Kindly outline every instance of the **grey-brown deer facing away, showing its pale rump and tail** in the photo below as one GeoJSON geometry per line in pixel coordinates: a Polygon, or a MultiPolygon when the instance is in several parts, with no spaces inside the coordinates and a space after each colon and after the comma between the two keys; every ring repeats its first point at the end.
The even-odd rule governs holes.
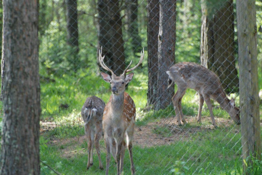
{"type": "Polygon", "coordinates": [[[102,117],[105,108],[105,102],[96,96],[88,97],[82,107],[81,115],[84,120],[85,134],[88,140],[88,162],[86,169],[93,165],[94,144],[99,160],[99,168],[103,165],[100,157],[99,140],[102,136],[102,117]]]}

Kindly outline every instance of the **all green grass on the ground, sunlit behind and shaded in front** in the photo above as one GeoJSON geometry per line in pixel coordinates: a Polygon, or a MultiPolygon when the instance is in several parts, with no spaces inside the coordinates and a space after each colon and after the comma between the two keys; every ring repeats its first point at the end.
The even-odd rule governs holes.
{"type": "MultiPolygon", "coordinates": [[[[41,83],[41,107],[42,120],[54,121],[57,127],[50,129],[41,136],[41,140],[69,139],[84,135],[84,127],[81,121],[80,110],[85,99],[91,95],[108,101],[111,92],[110,85],[102,80],[100,75],[81,72],[76,80],[73,76],[51,77],[54,83],[41,83]],[[86,76],[88,75],[88,76],[86,76]],[[72,83],[74,82],[74,83],[72,83]],[[67,110],[59,111],[59,104],[69,104],[67,110]],[[77,121],[77,122],[76,122],[77,121]]],[[[177,89],[177,88],[175,88],[177,89]]],[[[147,77],[137,73],[129,83],[127,92],[133,98],[137,108],[137,126],[145,126],[149,122],[156,122],[161,118],[174,117],[172,102],[166,109],[147,111],[146,105],[147,77]]],[[[188,89],[182,100],[182,110],[185,116],[196,117],[198,112],[198,97],[196,92],[188,89]]],[[[237,104],[238,104],[237,97],[237,104]]],[[[2,105],[0,103],[0,105],[2,105]]],[[[215,103],[215,105],[217,105],[215,103]]],[[[261,106],[260,106],[261,109],[261,106]]],[[[213,113],[217,118],[229,119],[229,115],[221,108],[214,108],[213,113]]],[[[210,117],[204,104],[202,116],[210,117]]],[[[262,119],[262,117],[261,117],[262,119]]],[[[196,121],[196,120],[194,120],[196,121]]],[[[183,125],[184,130],[203,127],[211,124],[211,119],[201,124],[190,122],[183,125]]],[[[152,133],[158,137],[170,137],[174,133],[166,126],[154,125],[152,133]]],[[[171,174],[183,172],[184,174],[241,174],[242,160],[240,133],[235,132],[234,126],[218,127],[216,129],[201,129],[198,132],[189,133],[187,137],[169,143],[170,145],[140,147],[133,146],[133,156],[137,174],[171,174]]],[[[238,130],[238,129],[237,129],[238,130]]],[[[136,132],[136,131],[135,131],[136,132]]],[[[41,141],[42,143],[43,141],[41,141]]],[[[45,142],[46,143],[46,142],[45,142]]],[[[51,165],[62,174],[104,174],[99,170],[97,155],[94,154],[94,165],[86,171],[87,152],[76,152],[70,157],[63,156],[65,150],[74,146],[75,150],[87,148],[87,143],[78,144],[75,141],[41,145],[41,160],[51,165]]],[[[49,142],[48,142],[49,143],[49,142]]],[[[103,140],[100,142],[104,147],[103,140]]],[[[95,153],[95,151],[94,151],[95,153]]],[[[102,163],[105,168],[105,152],[101,151],[102,163]]],[[[113,159],[110,163],[110,174],[116,174],[116,166],[113,159]]],[[[51,171],[41,165],[41,174],[50,174],[51,171]]],[[[130,174],[130,161],[128,151],[125,153],[124,173],[130,174]]]]}

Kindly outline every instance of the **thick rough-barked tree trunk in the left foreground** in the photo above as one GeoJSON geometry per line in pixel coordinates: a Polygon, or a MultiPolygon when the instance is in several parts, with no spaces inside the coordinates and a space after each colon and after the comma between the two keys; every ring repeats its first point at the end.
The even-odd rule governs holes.
{"type": "Polygon", "coordinates": [[[37,1],[4,0],[0,174],[40,174],[37,1]]]}

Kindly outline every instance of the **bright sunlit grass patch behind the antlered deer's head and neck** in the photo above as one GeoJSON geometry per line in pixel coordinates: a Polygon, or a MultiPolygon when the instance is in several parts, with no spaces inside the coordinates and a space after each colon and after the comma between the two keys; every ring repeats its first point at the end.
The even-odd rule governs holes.
{"type": "MultiPolygon", "coordinates": [[[[63,116],[73,110],[80,112],[86,98],[92,95],[106,103],[111,95],[110,83],[103,81],[100,75],[90,72],[93,71],[80,72],[77,78],[65,74],[61,77],[51,76],[55,82],[41,82],[42,118],[63,116]],[[60,104],[68,104],[69,108],[59,111],[60,104]]],[[[146,105],[146,89],[147,77],[141,73],[136,74],[126,92],[132,96],[137,108],[146,105]]]]}

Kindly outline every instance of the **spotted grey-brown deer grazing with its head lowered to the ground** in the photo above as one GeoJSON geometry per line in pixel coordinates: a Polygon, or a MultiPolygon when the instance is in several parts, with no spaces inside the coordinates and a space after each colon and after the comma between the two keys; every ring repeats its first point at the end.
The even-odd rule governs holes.
{"type": "Polygon", "coordinates": [[[181,120],[184,124],[186,123],[181,108],[181,100],[187,88],[194,89],[199,94],[198,122],[201,122],[201,112],[205,100],[210,111],[212,124],[216,127],[215,118],[212,112],[212,104],[210,101],[210,98],[212,98],[228,112],[230,117],[237,124],[240,124],[239,109],[235,106],[233,99],[229,100],[227,98],[221,86],[220,80],[214,72],[195,63],[182,62],[171,66],[166,73],[169,76],[168,88],[171,86],[172,82],[176,83],[178,87],[172,101],[179,125],[181,125],[181,120]]]}

